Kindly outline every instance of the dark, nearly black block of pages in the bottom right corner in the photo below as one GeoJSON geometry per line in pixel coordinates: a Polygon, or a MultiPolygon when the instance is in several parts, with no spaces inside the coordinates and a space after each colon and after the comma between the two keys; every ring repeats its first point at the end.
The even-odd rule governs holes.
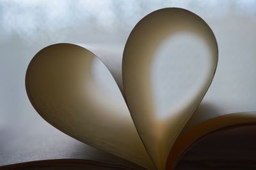
{"type": "Polygon", "coordinates": [[[214,130],[189,146],[175,169],[255,169],[255,134],[256,123],[214,130]]]}

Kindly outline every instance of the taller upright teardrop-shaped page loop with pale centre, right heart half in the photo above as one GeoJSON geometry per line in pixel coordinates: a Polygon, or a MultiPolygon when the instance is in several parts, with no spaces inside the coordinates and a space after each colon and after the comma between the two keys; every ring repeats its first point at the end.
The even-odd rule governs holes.
{"type": "Polygon", "coordinates": [[[158,169],[211,84],[218,46],[210,27],[181,8],[150,13],[124,49],[124,94],[132,119],[158,169]]]}

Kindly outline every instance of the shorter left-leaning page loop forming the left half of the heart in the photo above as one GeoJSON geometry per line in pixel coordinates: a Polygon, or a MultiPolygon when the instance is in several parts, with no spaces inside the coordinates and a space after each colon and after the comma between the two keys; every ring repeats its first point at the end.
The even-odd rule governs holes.
{"type": "Polygon", "coordinates": [[[60,43],[28,66],[26,89],[36,111],[65,134],[154,169],[108,68],[89,50],[60,43]]]}

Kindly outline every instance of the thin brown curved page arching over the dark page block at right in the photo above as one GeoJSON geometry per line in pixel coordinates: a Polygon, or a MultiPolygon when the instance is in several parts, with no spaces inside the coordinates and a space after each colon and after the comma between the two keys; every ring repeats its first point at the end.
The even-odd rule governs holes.
{"type": "Polygon", "coordinates": [[[211,118],[195,127],[191,128],[187,132],[184,132],[179,136],[173,148],[170,151],[167,169],[172,169],[178,163],[180,156],[188,149],[191,144],[196,140],[204,137],[204,135],[218,130],[220,128],[230,127],[234,125],[244,125],[248,123],[256,123],[256,112],[238,112],[232,114],[225,114],[216,118],[211,118]]]}

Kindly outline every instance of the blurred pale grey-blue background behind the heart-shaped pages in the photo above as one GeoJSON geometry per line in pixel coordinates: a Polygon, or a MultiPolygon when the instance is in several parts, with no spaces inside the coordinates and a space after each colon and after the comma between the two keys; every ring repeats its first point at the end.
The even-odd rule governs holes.
{"type": "Polygon", "coordinates": [[[60,42],[124,48],[129,33],[142,17],[166,7],[186,8],[196,13],[209,24],[218,41],[218,68],[196,111],[198,121],[229,112],[256,111],[256,1],[1,0],[1,165],[40,158],[68,158],[72,154],[84,158],[83,151],[74,153],[70,149],[74,144],[83,144],[52,128],[36,114],[28,100],[24,78],[36,52],[60,42]],[[36,130],[40,128],[45,133],[36,130]],[[42,138],[35,139],[35,136],[42,138]],[[20,144],[22,141],[30,143],[20,144]],[[62,148],[54,145],[57,141],[63,143],[62,148]],[[39,146],[46,146],[47,150],[42,151],[39,146]],[[33,151],[28,153],[31,147],[33,151]],[[10,150],[15,154],[20,151],[10,155],[10,150]],[[41,157],[31,158],[35,151],[41,157]],[[22,157],[24,152],[31,157],[22,157]]]}

